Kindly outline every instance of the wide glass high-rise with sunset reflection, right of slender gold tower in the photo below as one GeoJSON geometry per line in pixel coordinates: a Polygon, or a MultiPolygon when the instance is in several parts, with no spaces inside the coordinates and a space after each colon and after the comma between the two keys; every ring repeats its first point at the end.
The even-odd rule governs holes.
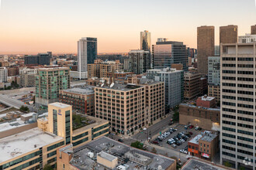
{"type": "Polygon", "coordinates": [[[183,42],[157,39],[152,48],[154,69],[171,67],[173,63],[181,63],[183,70],[189,70],[189,53],[183,42]]]}

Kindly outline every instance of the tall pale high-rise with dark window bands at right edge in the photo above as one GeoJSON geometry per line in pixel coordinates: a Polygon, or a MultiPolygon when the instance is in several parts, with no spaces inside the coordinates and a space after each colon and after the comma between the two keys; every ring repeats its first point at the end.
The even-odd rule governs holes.
{"type": "Polygon", "coordinates": [[[220,160],[255,169],[256,42],[220,50],[220,160]]]}

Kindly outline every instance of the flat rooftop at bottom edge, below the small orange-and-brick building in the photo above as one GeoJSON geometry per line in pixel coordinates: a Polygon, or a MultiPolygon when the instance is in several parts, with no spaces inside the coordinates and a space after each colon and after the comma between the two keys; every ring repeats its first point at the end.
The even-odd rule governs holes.
{"type": "Polygon", "coordinates": [[[195,170],[195,169],[202,169],[202,170],[227,170],[231,168],[223,167],[222,165],[214,165],[212,162],[206,162],[195,158],[190,158],[185,165],[182,166],[181,170],[195,170]]]}

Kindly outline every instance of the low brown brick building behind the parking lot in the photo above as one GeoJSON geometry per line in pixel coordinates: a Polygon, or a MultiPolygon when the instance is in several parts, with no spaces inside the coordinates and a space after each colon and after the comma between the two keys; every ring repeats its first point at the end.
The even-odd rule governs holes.
{"type": "Polygon", "coordinates": [[[220,131],[220,108],[180,104],[179,124],[192,124],[209,131],[220,131]]]}

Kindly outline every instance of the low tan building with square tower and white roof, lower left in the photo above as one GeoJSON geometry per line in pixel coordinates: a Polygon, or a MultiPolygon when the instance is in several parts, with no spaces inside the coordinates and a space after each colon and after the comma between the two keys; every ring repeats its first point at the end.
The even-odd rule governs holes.
{"type": "Polygon", "coordinates": [[[78,148],[108,134],[108,121],[77,117],[70,105],[54,103],[49,104],[48,113],[23,114],[0,124],[0,169],[56,168],[57,148],[68,144],[78,148]]]}

